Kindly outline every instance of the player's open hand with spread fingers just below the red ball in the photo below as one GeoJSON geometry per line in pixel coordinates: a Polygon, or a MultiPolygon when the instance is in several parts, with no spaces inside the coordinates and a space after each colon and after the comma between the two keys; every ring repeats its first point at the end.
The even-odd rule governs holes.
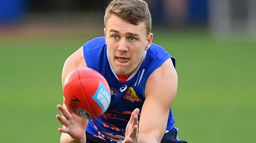
{"type": "Polygon", "coordinates": [[[65,127],[59,128],[58,131],[69,134],[73,139],[84,138],[85,130],[88,125],[88,119],[69,113],[62,105],[58,104],[57,108],[63,116],[56,115],[56,118],[65,127]]]}

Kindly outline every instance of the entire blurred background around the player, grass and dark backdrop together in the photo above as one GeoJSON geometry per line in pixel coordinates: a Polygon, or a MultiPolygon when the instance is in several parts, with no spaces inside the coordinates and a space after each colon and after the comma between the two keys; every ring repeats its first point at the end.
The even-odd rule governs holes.
{"type": "MultiPolygon", "coordinates": [[[[172,105],[189,143],[254,142],[256,1],[145,0],[153,42],[177,60],[172,105]]],[[[96,36],[110,0],[0,0],[0,142],[59,142],[65,59],[96,36]]]]}

